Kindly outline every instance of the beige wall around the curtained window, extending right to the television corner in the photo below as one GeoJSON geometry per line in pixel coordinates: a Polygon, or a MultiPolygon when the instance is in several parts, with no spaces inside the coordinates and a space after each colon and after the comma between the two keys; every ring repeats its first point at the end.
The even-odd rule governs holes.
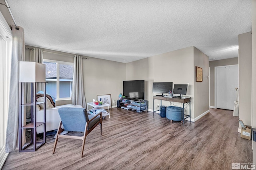
{"type": "MultiPolygon", "coordinates": [[[[35,48],[26,46],[26,48],[35,48]]],[[[42,48],[39,48],[42,49],[42,48]]],[[[30,50],[25,51],[26,60],[29,61],[30,50]]],[[[74,54],[43,49],[43,58],[55,61],[73,63],[74,54]]],[[[110,94],[112,101],[118,100],[118,95],[123,92],[123,80],[126,79],[126,65],[114,61],[85,57],[83,59],[84,89],[86,102],[92,102],[97,95],[110,94]]],[[[71,100],[56,101],[56,106],[72,104],[71,100]]]]}

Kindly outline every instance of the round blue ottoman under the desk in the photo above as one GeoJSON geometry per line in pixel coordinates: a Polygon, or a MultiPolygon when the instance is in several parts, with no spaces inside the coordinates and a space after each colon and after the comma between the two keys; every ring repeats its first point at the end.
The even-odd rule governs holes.
{"type": "Polygon", "coordinates": [[[171,122],[174,121],[181,121],[183,122],[184,110],[182,107],[177,106],[168,106],[166,107],[166,118],[169,119],[171,122]]]}

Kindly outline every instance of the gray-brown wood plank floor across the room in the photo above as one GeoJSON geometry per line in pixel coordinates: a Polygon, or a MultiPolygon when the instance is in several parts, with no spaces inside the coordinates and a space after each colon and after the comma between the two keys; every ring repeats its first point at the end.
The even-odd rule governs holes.
{"type": "Polygon", "coordinates": [[[232,163],[252,163],[252,141],[238,133],[233,111],[210,109],[192,123],[170,123],[152,112],[113,108],[87,137],[80,158],[81,140],[54,135],[36,152],[11,152],[3,170],[19,169],[231,169],[232,163]]]}

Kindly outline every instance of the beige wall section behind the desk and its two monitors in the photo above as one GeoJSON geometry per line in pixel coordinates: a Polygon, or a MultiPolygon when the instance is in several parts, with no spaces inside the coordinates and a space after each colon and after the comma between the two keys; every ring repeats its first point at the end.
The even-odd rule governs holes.
{"type": "MultiPolygon", "coordinates": [[[[173,82],[174,84],[186,84],[190,86],[187,89],[187,96],[192,97],[191,102],[191,117],[194,118],[194,47],[187,47],[171,51],[168,53],[150,57],[152,65],[149,66],[151,71],[152,82],[173,82]]],[[[150,101],[153,103],[152,84],[150,84],[150,101]]],[[[155,100],[155,108],[160,104],[159,100],[155,100]]],[[[170,106],[169,102],[162,102],[164,106],[170,106]]],[[[176,106],[182,106],[181,103],[175,103],[176,106]]],[[[189,108],[189,107],[188,107],[189,108]]],[[[189,114],[189,109],[185,114],[189,114]]]]}

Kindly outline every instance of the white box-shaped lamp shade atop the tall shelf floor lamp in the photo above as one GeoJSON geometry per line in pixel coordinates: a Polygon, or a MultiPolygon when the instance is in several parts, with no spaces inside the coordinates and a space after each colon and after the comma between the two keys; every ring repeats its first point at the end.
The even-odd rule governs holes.
{"type": "Polygon", "coordinates": [[[45,82],[45,64],[20,61],[20,82],[45,82]]]}

